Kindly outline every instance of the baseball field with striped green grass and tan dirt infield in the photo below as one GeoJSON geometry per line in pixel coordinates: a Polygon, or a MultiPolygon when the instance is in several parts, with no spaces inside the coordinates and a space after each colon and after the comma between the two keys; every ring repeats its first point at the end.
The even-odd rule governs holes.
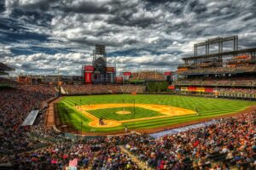
{"type": "Polygon", "coordinates": [[[90,95],[62,97],[55,104],[59,127],[83,133],[113,133],[169,127],[234,114],[256,102],[178,95],[90,95]]]}

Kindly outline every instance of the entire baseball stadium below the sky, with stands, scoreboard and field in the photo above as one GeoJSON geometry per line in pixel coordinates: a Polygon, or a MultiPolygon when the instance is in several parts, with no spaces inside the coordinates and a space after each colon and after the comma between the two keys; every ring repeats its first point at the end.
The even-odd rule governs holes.
{"type": "Polygon", "coordinates": [[[97,44],[76,77],[14,79],[0,63],[1,169],[254,169],[256,48],[217,37],[194,53],[176,71],[118,74],[97,44]]]}

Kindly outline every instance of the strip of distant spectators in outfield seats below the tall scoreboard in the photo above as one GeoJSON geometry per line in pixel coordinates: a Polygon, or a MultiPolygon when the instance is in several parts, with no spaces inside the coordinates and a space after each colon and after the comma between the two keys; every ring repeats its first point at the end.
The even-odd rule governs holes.
{"type": "Polygon", "coordinates": [[[61,87],[67,94],[131,94],[145,91],[145,86],[131,84],[62,85],[61,87]]]}

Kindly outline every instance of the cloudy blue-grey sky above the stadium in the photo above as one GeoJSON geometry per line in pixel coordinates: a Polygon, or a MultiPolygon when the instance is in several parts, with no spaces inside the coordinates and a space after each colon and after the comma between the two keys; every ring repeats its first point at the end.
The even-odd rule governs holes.
{"type": "Polygon", "coordinates": [[[256,47],[255,0],[0,0],[0,62],[17,73],[80,75],[96,43],[118,71],[174,71],[195,42],[233,35],[256,47]]]}

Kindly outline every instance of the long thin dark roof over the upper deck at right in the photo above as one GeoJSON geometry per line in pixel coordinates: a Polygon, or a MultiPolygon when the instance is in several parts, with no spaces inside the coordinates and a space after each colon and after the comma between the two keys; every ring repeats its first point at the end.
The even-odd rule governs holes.
{"type": "Polygon", "coordinates": [[[199,55],[199,56],[194,56],[194,57],[185,57],[183,60],[189,60],[189,59],[205,59],[205,58],[211,58],[211,57],[218,57],[218,56],[223,56],[223,55],[232,55],[232,54],[244,54],[244,53],[255,53],[256,48],[247,48],[247,49],[241,49],[237,51],[229,51],[229,52],[224,52],[220,54],[207,54],[207,55],[199,55]]]}

